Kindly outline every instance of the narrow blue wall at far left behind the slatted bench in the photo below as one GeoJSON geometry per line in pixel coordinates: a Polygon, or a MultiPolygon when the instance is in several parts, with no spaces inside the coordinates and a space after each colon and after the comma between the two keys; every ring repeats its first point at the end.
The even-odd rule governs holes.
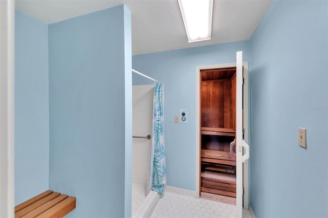
{"type": "Polygon", "coordinates": [[[15,204],[48,189],[48,26],[15,11],[15,204]]]}

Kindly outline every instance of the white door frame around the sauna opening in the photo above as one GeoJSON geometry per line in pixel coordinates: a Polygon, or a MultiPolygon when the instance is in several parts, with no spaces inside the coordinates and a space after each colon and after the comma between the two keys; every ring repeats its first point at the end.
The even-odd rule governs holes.
{"type": "MultiPolygon", "coordinates": [[[[249,89],[249,81],[248,81],[248,61],[242,62],[243,73],[244,73],[244,128],[245,128],[245,142],[249,143],[249,98],[248,98],[248,89],[249,89]]],[[[198,66],[196,67],[196,180],[195,180],[195,197],[199,198],[199,157],[200,157],[200,70],[208,70],[215,68],[233,68],[236,67],[236,62],[234,63],[225,63],[225,64],[215,64],[208,66],[198,66]]],[[[249,207],[249,161],[245,161],[243,164],[243,183],[244,183],[244,195],[243,195],[243,207],[249,207]]]]}

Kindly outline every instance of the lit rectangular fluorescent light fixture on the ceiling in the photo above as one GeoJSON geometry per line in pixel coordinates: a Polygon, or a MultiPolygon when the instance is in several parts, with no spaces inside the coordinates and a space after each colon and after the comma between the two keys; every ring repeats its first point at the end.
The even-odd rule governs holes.
{"type": "Polygon", "coordinates": [[[213,0],[178,0],[188,41],[211,39],[213,0]]]}

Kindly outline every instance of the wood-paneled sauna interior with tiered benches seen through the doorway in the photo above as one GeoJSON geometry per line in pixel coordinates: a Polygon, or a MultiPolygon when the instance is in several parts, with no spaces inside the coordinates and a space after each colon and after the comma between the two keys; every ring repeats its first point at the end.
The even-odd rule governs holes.
{"type": "Polygon", "coordinates": [[[236,68],[200,71],[200,196],[236,198],[236,68]]]}

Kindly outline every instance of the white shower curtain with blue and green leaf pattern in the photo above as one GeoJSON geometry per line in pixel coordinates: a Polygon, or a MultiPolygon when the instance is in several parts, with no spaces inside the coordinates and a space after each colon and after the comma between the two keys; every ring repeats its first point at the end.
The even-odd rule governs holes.
{"type": "Polygon", "coordinates": [[[153,136],[150,152],[150,170],[147,183],[147,194],[151,189],[162,194],[166,185],[163,103],[163,84],[155,82],[153,100],[153,136]]]}

